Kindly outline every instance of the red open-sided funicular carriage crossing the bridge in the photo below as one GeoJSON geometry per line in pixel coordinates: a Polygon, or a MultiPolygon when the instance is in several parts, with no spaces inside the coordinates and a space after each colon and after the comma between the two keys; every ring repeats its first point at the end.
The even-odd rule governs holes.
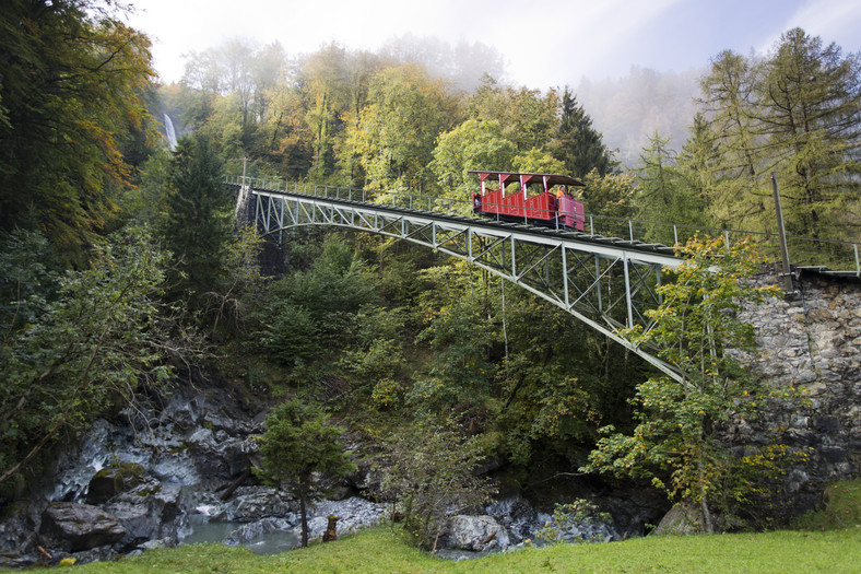
{"type": "Polygon", "coordinates": [[[527,221],[583,231],[583,204],[574,199],[569,190],[571,187],[586,186],[579,179],[555,174],[468,173],[477,174],[482,186],[481,194],[472,195],[474,213],[504,221],[527,221]],[[506,195],[509,186],[514,187],[514,191],[506,195]]]}

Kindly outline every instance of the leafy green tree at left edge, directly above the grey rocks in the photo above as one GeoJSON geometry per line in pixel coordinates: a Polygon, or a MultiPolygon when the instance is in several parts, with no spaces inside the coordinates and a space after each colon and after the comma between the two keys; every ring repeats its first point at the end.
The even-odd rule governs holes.
{"type": "Polygon", "coordinates": [[[57,278],[56,298],[39,297],[25,325],[3,326],[0,484],[38,476],[43,450],[170,373],[162,358],[182,339],[157,302],[167,255],[142,230],[113,239],[86,270],[57,278]]]}

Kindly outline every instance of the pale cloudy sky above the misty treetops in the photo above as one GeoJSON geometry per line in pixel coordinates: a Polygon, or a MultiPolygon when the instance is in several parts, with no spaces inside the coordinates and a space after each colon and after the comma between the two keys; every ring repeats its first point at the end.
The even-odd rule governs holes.
{"type": "Polygon", "coordinates": [[[132,0],[132,26],[153,40],[166,83],[182,55],[228,38],[278,40],[291,55],[332,40],[376,50],[412,34],[481,42],[505,58],[509,83],[544,90],[582,78],[705,67],[719,51],[772,46],[801,26],[845,52],[861,50],[859,0],[132,0]]]}

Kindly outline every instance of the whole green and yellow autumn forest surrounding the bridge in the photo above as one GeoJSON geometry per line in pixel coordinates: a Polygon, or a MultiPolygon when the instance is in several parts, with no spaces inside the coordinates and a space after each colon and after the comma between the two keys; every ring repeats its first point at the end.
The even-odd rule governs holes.
{"type": "MultiPolygon", "coordinates": [[[[0,14],[0,504],[97,417],[205,368],[281,405],[275,444],[302,446],[274,430],[306,417],[401,460],[457,450],[435,471],[463,496],[486,488],[471,482],[483,461],[499,489],[589,472],[701,503],[707,517],[786,518],[775,493],[733,488],[771,484],[778,470],[751,479],[750,460],[715,438],[754,385],[731,358],[699,368],[668,356],[689,373],[675,385],[486,271],[377,236],[304,230],[273,255],[235,229],[222,180],[245,162],[249,176],[463,199],[477,185],[469,169],[558,173],[587,184],[589,213],[774,232],[776,174],[790,235],[858,242],[860,55],[800,28],[763,57],[720,52],[685,103],[694,112],[677,151],[656,126],[623,168],[573,89],[500,83],[500,58],[480,44],[401,38],[379,52],[331,43],[287,55],[229,40],[188,55],[182,81],[166,85],[121,10],[10,0],[0,14]],[[763,501],[769,516],[752,511],[763,501]]],[[[722,309],[770,293],[697,274],[718,251],[752,272],[750,251],[721,249],[688,245],[686,280],[723,297],[722,309]]],[[[721,344],[750,344],[727,314],[696,302],[675,312],[712,321],[721,344]]],[[[668,324],[653,336],[689,333],[668,324]]],[[[263,479],[306,488],[302,461],[279,452],[263,449],[263,479]]],[[[321,469],[349,466],[328,460],[321,469]]],[[[439,508],[413,494],[425,513],[415,537],[429,547],[439,508]]]]}

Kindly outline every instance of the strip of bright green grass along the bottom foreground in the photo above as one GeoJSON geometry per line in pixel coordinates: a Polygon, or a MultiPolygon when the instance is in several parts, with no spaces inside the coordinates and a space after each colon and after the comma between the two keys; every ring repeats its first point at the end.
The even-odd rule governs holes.
{"type": "Polygon", "coordinates": [[[75,569],[82,573],[370,572],[861,572],[861,527],[829,531],[650,537],[608,544],[558,544],[447,562],[405,546],[381,527],[328,544],[258,557],[241,548],[191,544],[75,569]]]}

